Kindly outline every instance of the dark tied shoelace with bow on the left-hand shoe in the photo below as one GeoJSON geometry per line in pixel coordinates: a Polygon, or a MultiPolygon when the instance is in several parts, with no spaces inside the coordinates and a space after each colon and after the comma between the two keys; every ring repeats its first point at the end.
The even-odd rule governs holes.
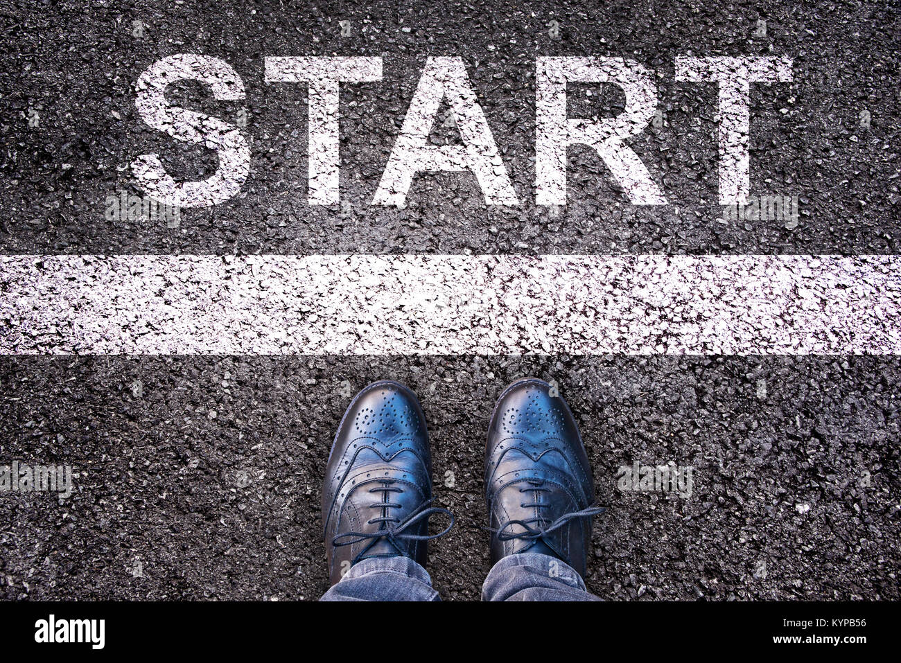
{"type": "Polygon", "coordinates": [[[432,499],[423,501],[422,504],[419,504],[419,506],[417,506],[403,519],[391,515],[391,509],[399,509],[401,508],[401,504],[390,502],[388,495],[390,493],[403,493],[404,489],[400,486],[393,486],[393,484],[395,483],[393,479],[385,479],[381,483],[383,484],[383,486],[369,489],[369,493],[381,493],[383,495],[381,502],[369,504],[370,508],[381,510],[381,516],[379,516],[378,518],[371,518],[369,519],[369,521],[367,521],[367,524],[370,525],[378,522],[378,530],[369,532],[347,531],[336,535],[332,539],[332,546],[335,546],[336,548],[341,546],[351,546],[354,543],[360,543],[362,541],[369,540],[369,545],[360,550],[359,554],[351,562],[352,564],[356,564],[359,559],[364,554],[366,554],[366,551],[372,548],[372,546],[374,546],[380,539],[386,539],[396,549],[403,550],[403,541],[424,541],[438,539],[439,537],[442,537],[449,531],[451,531],[451,527],[453,527],[453,513],[441,506],[432,506],[432,499]],[[427,521],[429,516],[437,513],[447,515],[451,519],[451,523],[446,528],[444,528],[443,531],[437,534],[414,534],[412,532],[406,531],[409,528],[413,527],[417,522],[420,522],[422,520],[427,521]]]}

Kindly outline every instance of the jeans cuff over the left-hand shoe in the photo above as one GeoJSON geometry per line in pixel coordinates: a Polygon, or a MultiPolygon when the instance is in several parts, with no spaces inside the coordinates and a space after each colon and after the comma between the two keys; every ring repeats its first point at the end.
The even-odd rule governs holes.
{"type": "Polygon", "coordinates": [[[370,557],[350,567],[320,601],[441,601],[428,572],[406,557],[370,557]]]}

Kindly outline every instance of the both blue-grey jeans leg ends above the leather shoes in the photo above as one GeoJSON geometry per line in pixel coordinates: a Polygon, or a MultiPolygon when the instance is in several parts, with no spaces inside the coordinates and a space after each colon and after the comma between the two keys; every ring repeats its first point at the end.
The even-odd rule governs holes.
{"type": "MultiPolygon", "coordinates": [[[[428,572],[405,557],[354,564],[322,601],[441,601],[428,572]]],[[[537,552],[498,560],[482,586],[483,601],[600,601],[576,570],[537,552]]]]}

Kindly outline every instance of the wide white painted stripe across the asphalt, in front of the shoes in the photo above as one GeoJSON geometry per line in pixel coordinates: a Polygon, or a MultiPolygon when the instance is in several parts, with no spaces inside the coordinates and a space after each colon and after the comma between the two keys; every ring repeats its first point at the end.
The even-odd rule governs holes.
{"type": "Polygon", "coordinates": [[[3,256],[0,354],[899,354],[896,256],[3,256]]]}

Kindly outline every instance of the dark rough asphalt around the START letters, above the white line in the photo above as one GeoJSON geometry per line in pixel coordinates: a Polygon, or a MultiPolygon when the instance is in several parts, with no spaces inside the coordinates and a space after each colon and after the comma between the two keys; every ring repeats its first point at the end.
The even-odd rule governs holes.
{"type": "MultiPolygon", "coordinates": [[[[894,3],[6,7],[4,253],[901,253],[894,3]],[[246,120],[250,174],[231,200],[184,210],[178,228],[107,220],[107,196],[140,193],[131,165],[141,154],[159,152],[178,179],[217,168],[214,151],[137,113],[141,73],[177,53],[223,59],[241,77],[243,100],[216,101],[197,83],[167,96],[235,126],[246,120]],[[383,58],[381,81],[341,86],[341,204],[307,204],[305,84],[265,80],[266,57],[291,55],[383,58]],[[466,64],[518,206],[486,206],[471,174],[419,175],[404,209],[371,204],[430,55],[466,64]],[[629,144],[669,204],[629,204],[596,153],[578,146],[569,204],[535,204],[535,59],[545,55],[630,58],[651,71],[660,121],[629,144]],[[751,193],[797,195],[796,223],[717,221],[716,86],[677,81],[675,70],[677,57],[714,55],[792,60],[791,83],[751,85],[749,144],[751,193]]],[[[616,86],[569,88],[570,116],[623,111],[616,86]]],[[[459,141],[453,123],[436,123],[432,141],[459,141]]]]}

